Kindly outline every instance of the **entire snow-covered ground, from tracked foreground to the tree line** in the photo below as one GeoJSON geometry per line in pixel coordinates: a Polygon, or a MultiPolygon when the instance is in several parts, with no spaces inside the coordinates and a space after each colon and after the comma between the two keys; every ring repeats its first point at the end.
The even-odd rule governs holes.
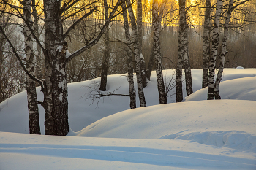
{"type": "MultiPolygon", "coordinates": [[[[169,81],[175,71],[164,73],[169,81]]],[[[0,104],[0,169],[256,169],[255,75],[256,69],[225,69],[220,95],[227,99],[206,101],[202,69],[193,69],[199,91],[186,102],[173,103],[173,95],[171,104],[157,105],[153,72],[144,89],[151,107],[138,109],[129,109],[125,96],[105,98],[98,107],[85,100],[99,78],[72,83],[68,136],[28,134],[26,93],[19,93],[0,104]]],[[[107,90],[128,94],[127,77],[108,76],[107,90]]],[[[39,112],[43,132],[42,107],[39,112]]]]}

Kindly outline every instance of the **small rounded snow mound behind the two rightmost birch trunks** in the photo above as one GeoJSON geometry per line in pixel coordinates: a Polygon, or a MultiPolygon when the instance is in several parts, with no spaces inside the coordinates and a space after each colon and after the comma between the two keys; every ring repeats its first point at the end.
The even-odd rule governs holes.
{"type": "MultiPolygon", "coordinates": [[[[207,99],[208,88],[197,90],[187,96],[184,101],[202,101],[207,99]]],[[[245,77],[221,82],[219,94],[222,99],[256,101],[256,77],[245,77]]]]}

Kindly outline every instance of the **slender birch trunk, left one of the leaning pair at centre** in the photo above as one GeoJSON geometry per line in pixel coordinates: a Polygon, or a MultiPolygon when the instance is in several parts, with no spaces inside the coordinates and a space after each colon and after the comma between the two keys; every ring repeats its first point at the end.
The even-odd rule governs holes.
{"type": "Polygon", "coordinates": [[[128,23],[128,18],[127,18],[127,9],[126,9],[126,4],[125,1],[122,1],[122,15],[124,18],[124,31],[125,31],[125,39],[128,42],[127,47],[127,67],[128,67],[128,83],[129,83],[129,107],[131,109],[136,108],[136,92],[135,92],[135,87],[134,87],[134,81],[133,81],[133,63],[132,63],[132,42],[130,39],[130,34],[129,34],[129,23],[128,23]]]}

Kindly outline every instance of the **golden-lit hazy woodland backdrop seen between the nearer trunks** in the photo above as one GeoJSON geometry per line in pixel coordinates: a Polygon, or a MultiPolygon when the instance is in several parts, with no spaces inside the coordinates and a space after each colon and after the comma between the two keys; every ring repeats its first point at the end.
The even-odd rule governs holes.
{"type": "MultiPolygon", "coordinates": [[[[92,1],[91,1],[92,2],[92,1]]],[[[14,1],[12,2],[14,3],[14,1]]],[[[40,10],[42,1],[35,1],[37,4],[37,20],[39,26],[39,37],[43,42],[44,37],[44,23],[43,12],[40,10]]],[[[80,1],[80,3],[85,3],[80,1]]],[[[89,3],[87,1],[86,3],[89,3]]],[[[178,1],[168,0],[165,2],[165,9],[161,22],[160,42],[162,55],[163,69],[176,69],[177,55],[178,55],[178,1]]],[[[228,1],[226,2],[228,3],[228,1]]],[[[115,0],[108,1],[108,7],[113,7],[116,4],[115,0]]],[[[211,25],[214,22],[214,1],[212,1],[211,25]]],[[[16,2],[17,6],[21,6],[16,2]]],[[[80,47],[88,44],[91,39],[98,34],[99,28],[104,23],[104,4],[103,1],[97,1],[98,10],[85,18],[77,29],[71,31],[68,37],[68,50],[70,53],[75,52],[80,47]]],[[[4,9],[4,4],[1,4],[1,9],[4,9]]],[[[135,1],[132,4],[135,12],[135,18],[138,18],[138,3],[135,1]]],[[[200,69],[203,66],[203,21],[205,14],[205,1],[187,1],[188,20],[188,40],[189,40],[189,58],[192,69],[200,69]]],[[[5,7],[7,9],[7,7],[5,7]]],[[[6,10],[5,9],[5,10],[6,10]]],[[[79,9],[79,7],[78,7],[79,9]]],[[[141,53],[145,58],[146,66],[151,56],[153,47],[153,31],[152,31],[152,0],[142,1],[143,9],[143,24],[142,24],[142,49],[141,53]]],[[[15,13],[13,9],[7,9],[10,13],[15,13]]],[[[74,10],[74,9],[73,9],[74,10]]],[[[84,13],[89,12],[90,9],[85,9],[84,13]]],[[[229,36],[227,39],[227,55],[225,58],[225,67],[233,68],[236,66],[243,66],[244,68],[253,68],[256,66],[256,2],[247,1],[241,4],[233,11],[230,20],[229,36]]],[[[82,15],[82,13],[72,15],[72,11],[68,11],[69,17],[64,21],[64,29],[75,23],[82,15]]],[[[20,19],[14,15],[4,14],[1,12],[1,24],[6,24],[7,35],[12,40],[12,44],[18,49],[20,55],[25,56],[23,26],[20,19]],[[7,17],[8,16],[8,17],[7,17]]],[[[224,16],[223,16],[224,18],[224,16]]],[[[223,37],[224,19],[220,21],[220,41],[223,37]]],[[[0,102],[4,101],[10,96],[26,90],[26,73],[18,63],[17,58],[12,53],[10,45],[4,40],[4,36],[0,34],[0,102]]],[[[108,63],[108,74],[124,74],[127,72],[127,45],[124,41],[125,32],[123,18],[117,15],[109,26],[109,44],[110,44],[110,58],[108,63]]],[[[91,80],[101,76],[102,56],[104,55],[104,38],[102,37],[97,45],[94,45],[85,53],[82,53],[77,58],[67,63],[67,81],[79,82],[84,80],[91,80]]],[[[220,53],[221,48],[218,49],[220,53]]],[[[45,66],[43,62],[43,55],[41,50],[37,48],[37,75],[39,78],[45,76],[45,66]]],[[[218,62],[217,62],[218,63],[218,62]]]]}

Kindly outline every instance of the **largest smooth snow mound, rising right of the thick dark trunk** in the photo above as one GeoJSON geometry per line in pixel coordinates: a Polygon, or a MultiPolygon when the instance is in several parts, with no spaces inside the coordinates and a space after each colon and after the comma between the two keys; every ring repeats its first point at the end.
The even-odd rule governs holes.
{"type": "Polygon", "coordinates": [[[256,153],[255,109],[256,101],[238,100],[193,101],[129,109],[92,123],[76,136],[183,139],[256,153]]]}

